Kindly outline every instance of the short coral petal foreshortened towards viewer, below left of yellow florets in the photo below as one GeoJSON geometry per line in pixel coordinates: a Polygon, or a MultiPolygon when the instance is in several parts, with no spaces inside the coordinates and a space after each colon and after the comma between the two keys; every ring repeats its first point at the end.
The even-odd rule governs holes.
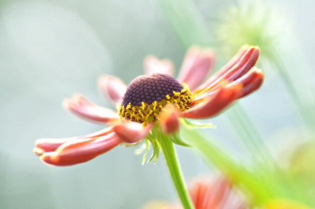
{"type": "Polygon", "coordinates": [[[143,126],[135,122],[117,124],[113,127],[115,133],[126,143],[136,143],[143,139],[151,130],[153,123],[143,126]]]}

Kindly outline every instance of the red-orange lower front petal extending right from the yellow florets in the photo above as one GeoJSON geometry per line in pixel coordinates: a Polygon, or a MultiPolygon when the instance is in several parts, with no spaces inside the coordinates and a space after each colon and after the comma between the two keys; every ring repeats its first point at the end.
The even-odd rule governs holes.
{"type": "Polygon", "coordinates": [[[214,92],[209,98],[203,99],[191,109],[182,112],[184,118],[204,119],[220,113],[230,103],[240,96],[241,85],[223,87],[214,92]]]}

